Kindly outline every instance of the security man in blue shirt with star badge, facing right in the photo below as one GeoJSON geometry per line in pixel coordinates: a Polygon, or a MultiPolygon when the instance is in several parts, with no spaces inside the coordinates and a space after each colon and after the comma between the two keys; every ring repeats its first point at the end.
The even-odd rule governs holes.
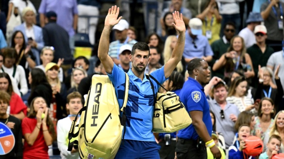
{"type": "Polygon", "coordinates": [[[212,122],[203,88],[210,80],[208,63],[202,59],[193,59],[188,63],[187,71],[189,78],[179,95],[192,118],[192,124],[179,130],[176,156],[178,159],[207,159],[207,146],[214,158],[219,159],[221,152],[211,138],[212,122]]]}

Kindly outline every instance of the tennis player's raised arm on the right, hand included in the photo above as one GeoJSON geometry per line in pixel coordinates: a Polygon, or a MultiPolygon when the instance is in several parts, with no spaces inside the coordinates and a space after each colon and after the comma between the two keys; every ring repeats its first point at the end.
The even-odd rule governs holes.
{"type": "Polygon", "coordinates": [[[164,73],[166,78],[168,78],[172,74],[173,70],[176,68],[176,65],[179,63],[179,61],[182,60],[182,53],[186,37],[186,26],[183,22],[182,14],[179,15],[179,12],[175,11],[175,13],[173,13],[173,19],[175,21],[175,23],[173,23],[173,26],[179,32],[179,38],[176,47],[173,49],[171,58],[164,66],[164,73]]]}

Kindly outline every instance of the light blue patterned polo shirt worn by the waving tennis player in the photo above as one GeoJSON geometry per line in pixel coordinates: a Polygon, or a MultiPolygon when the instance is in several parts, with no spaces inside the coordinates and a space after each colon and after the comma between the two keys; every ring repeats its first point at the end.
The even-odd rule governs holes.
{"type": "MultiPolygon", "coordinates": [[[[126,133],[124,139],[138,141],[155,141],[152,132],[152,118],[154,112],[154,98],[150,81],[144,74],[143,81],[135,76],[131,69],[127,72],[129,75],[129,92],[126,106],[126,133]]],[[[160,83],[166,81],[164,66],[150,73],[160,83]]],[[[109,79],[115,87],[115,93],[118,99],[119,107],[122,107],[125,92],[125,73],[114,64],[112,73],[108,74],[109,79]]],[[[155,93],[159,85],[151,79],[155,93]]]]}

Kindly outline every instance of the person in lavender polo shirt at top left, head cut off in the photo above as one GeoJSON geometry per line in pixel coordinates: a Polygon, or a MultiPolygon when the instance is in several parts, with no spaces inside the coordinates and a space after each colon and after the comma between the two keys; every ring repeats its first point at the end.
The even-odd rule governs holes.
{"type": "Polygon", "coordinates": [[[40,8],[38,9],[41,27],[45,26],[45,15],[49,11],[54,11],[56,13],[57,24],[68,32],[70,38],[73,37],[78,24],[77,1],[42,0],[40,8]]]}

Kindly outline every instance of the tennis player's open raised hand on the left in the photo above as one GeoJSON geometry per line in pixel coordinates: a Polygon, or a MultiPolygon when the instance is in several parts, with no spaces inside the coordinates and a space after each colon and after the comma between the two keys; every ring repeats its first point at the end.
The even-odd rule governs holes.
{"type": "Polygon", "coordinates": [[[114,26],[121,20],[122,17],[118,17],[119,14],[119,7],[117,8],[116,5],[112,6],[108,9],[108,15],[105,17],[105,26],[114,26]]]}

